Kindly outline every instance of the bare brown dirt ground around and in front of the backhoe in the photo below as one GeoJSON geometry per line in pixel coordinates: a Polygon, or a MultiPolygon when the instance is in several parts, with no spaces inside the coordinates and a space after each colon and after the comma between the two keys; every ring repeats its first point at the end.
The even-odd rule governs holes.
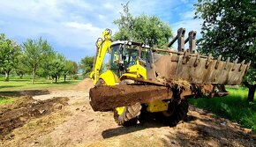
{"type": "Polygon", "coordinates": [[[256,146],[250,129],[195,107],[174,128],[158,121],[117,126],[111,112],[90,107],[92,86],[86,79],[71,90],[2,93],[20,98],[0,107],[0,146],[256,146]]]}

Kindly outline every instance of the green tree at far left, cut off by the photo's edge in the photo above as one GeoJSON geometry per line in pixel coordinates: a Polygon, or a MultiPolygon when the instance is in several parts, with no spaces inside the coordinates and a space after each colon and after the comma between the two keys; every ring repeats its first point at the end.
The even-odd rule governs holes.
{"type": "Polygon", "coordinates": [[[5,81],[9,81],[9,75],[18,62],[20,53],[19,45],[10,39],[6,39],[4,33],[0,34],[0,66],[5,73],[5,81]]]}

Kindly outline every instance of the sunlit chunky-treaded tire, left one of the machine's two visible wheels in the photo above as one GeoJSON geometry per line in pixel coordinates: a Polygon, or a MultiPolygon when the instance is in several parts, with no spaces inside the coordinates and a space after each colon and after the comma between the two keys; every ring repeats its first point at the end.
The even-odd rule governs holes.
{"type": "Polygon", "coordinates": [[[122,114],[117,114],[117,110],[114,110],[114,118],[118,125],[128,127],[136,125],[140,114],[141,105],[136,103],[132,106],[124,107],[122,114]]]}

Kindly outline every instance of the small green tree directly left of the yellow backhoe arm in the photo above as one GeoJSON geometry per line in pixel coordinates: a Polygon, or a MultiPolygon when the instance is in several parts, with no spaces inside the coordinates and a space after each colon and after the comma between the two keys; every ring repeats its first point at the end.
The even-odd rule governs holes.
{"type": "Polygon", "coordinates": [[[82,70],[83,75],[88,76],[88,74],[94,68],[94,56],[85,56],[79,62],[79,68],[82,70]]]}

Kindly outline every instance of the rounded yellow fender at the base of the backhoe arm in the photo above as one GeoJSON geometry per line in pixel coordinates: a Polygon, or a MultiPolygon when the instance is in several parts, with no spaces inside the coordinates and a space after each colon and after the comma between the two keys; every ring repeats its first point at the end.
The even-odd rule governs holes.
{"type": "Polygon", "coordinates": [[[104,73],[102,73],[100,78],[102,78],[102,80],[106,83],[106,85],[117,85],[120,83],[120,79],[111,70],[107,70],[104,73]]]}

